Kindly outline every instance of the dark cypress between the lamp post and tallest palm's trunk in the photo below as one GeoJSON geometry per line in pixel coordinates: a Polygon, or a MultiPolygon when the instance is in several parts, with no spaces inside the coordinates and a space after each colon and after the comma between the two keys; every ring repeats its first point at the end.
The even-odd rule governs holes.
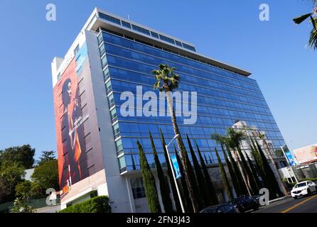
{"type": "MultiPolygon", "coordinates": [[[[176,155],[176,159],[177,159],[177,162],[178,162],[178,166],[179,166],[179,170],[181,172],[181,179],[177,179],[178,182],[181,182],[181,192],[182,192],[182,198],[183,198],[183,206],[184,208],[186,209],[187,212],[189,213],[193,213],[193,206],[191,205],[191,201],[190,201],[190,198],[189,198],[189,194],[188,194],[188,187],[187,187],[187,184],[186,184],[186,180],[184,179],[184,168],[183,168],[183,164],[181,163],[181,157],[179,157],[178,155],[178,152],[177,152],[177,149],[174,145],[174,150],[175,150],[175,155],[176,155]]],[[[174,170],[173,170],[174,171],[174,170]]],[[[179,185],[179,184],[178,184],[179,185]]]]}

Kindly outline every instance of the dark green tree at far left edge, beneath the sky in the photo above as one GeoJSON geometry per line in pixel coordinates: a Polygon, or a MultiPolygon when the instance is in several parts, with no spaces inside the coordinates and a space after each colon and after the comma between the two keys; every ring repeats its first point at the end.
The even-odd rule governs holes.
{"type": "Polygon", "coordinates": [[[1,162],[21,162],[24,169],[32,169],[35,152],[36,150],[31,148],[31,145],[6,148],[0,151],[1,162]]]}

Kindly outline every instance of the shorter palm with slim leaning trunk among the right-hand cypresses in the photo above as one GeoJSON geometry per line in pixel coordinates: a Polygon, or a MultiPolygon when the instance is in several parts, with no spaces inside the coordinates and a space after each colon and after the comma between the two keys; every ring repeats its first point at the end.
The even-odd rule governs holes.
{"type": "Polygon", "coordinates": [[[238,148],[240,148],[240,143],[242,140],[245,140],[245,133],[242,131],[235,131],[234,128],[227,128],[227,134],[228,134],[228,142],[230,144],[230,148],[232,148],[233,153],[235,155],[235,160],[237,161],[237,165],[240,169],[240,172],[242,173],[242,178],[243,181],[245,182],[245,185],[247,186],[247,193],[251,196],[251,190],[250,190],[250,185],[249,185],[249,180],[247,177],[247,174],[245,172],[245,169],[242,166],[242,163],[240,161],[240,157],[237,153],[238,148]]]}

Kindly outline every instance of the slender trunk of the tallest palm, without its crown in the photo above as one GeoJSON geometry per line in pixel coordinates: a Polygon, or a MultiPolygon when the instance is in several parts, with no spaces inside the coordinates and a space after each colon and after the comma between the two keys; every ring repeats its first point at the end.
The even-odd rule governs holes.
{"type": "Polygon", "coordinates": [[[189,177],[189,174],[188,174],[188,165],[187,165],[187,162],[186,162],[186,160],[184,158],[185,153],[186,153],[185,145],[183,144],[183,140],[181,138],[181,133],[180,133],[180,131],[178,129],[178,126],[177,126],[176,114],[175,114],[175,111],[173,109],[173,100],[172,100],[171,92],[166,92],[166,98],[167,98],[167,101],[168,101],[168,109],[169,109],[170,114],[171,114],[171,119],[172,119],[172,123],[173,123],[174,133],[175,133],[175,135],[179,135],[178,138],[176,139],[176,141],[177,141],[178,149],[181,151],[181,162],[182,162],[182,165],[183,165],[183,168],[184,168],[185,179],[186,179],[186,183],[187,183],[187,186],[188,186],[188,192],[189,192],[190,201],[192,202],[194,213],[198,213],[199,209],[198,209],[197,201],[195,200],[193,184],[190,181],[190,177],[189,177]]]}

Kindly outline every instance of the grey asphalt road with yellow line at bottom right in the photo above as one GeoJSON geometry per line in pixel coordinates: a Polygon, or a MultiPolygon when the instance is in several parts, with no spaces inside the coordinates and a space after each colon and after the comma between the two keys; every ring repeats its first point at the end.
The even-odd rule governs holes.
{"type": "Polygon", "coordinates": [[[317,213],[317,194],[276,201],[269,206],[262,206],[254,213],[317,213]]]}

